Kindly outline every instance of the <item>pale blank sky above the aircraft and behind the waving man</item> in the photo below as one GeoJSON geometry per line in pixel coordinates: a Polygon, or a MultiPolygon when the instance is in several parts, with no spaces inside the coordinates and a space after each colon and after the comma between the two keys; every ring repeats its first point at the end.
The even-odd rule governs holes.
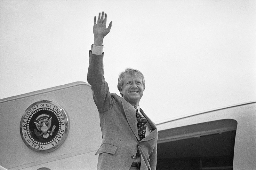
{"type": "Polygon", "coordinates": [[[105,78],[139,69],[155,122],[256,100],[256,1],[0,0],[0,99],[87,82],[93,19],[108,14],[105,78]]]}

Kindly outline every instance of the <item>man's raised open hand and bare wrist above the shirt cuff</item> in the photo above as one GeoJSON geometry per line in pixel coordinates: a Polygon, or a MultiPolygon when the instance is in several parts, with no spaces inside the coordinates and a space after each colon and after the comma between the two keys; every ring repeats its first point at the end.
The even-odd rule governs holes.
{"type": "Polygon", "coordinates": [[[94,25],[93,25],[93,34],[94,34],[94,43],[93,45],[102,46],[103,38],[110,32],[112,27],[112,21],[109,23],[108,28],[106,27],[107,14],[102,12],[101,18],[100,13],[96,23],[96,16],[94,16],[94,25]]]}

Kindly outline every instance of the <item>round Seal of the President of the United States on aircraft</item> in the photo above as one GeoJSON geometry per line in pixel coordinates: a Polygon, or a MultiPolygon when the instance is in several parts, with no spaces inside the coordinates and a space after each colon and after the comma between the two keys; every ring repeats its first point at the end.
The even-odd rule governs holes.
{"type": "Polygon", "coordinates": [[[57,103],[42,100],[31,104],[20,120],[20,135],[33,151],[52,152],[65,141],[69,119],[57,103]]]}

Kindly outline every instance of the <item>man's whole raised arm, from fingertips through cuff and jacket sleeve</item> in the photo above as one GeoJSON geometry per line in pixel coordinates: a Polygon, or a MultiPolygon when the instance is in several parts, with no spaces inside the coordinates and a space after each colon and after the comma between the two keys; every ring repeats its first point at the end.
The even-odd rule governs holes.
{"type": "Polygon", "coordinates": [[[92,46],[92,51],[89,52],[89,67],[87,73],[87,81],[91,85],[93,99],[100,113],[109,110],[113,107],[115,103],[115,101],[111,97],[110,92],[108,91],[108,83],[105,81],[104,78],[104,54],[102,53],[102,51],[97,51],[99,47],[95,47],[102,46],[103,38],[109,33],[111,28],[112,22],[110,22],[108,28],[106,28],[107,14],[105,14],[105,19],[103,18],[103,16],[104,12],[102,12],[101,18],[99,14],[98,23],[96,23],[96,17],[94,17],[94,46],[92,46]]]}

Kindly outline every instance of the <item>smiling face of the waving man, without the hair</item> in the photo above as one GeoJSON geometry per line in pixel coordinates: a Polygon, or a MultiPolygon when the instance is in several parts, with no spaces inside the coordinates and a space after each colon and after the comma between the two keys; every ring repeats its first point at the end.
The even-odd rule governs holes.
{"type": "Polygon", "coordinates": [[[123,98],[133,106],[138,106],[143,96],[144,86],[142,78],[136,75],[124,75],[124,84],[120,89],[123,98]]]}

